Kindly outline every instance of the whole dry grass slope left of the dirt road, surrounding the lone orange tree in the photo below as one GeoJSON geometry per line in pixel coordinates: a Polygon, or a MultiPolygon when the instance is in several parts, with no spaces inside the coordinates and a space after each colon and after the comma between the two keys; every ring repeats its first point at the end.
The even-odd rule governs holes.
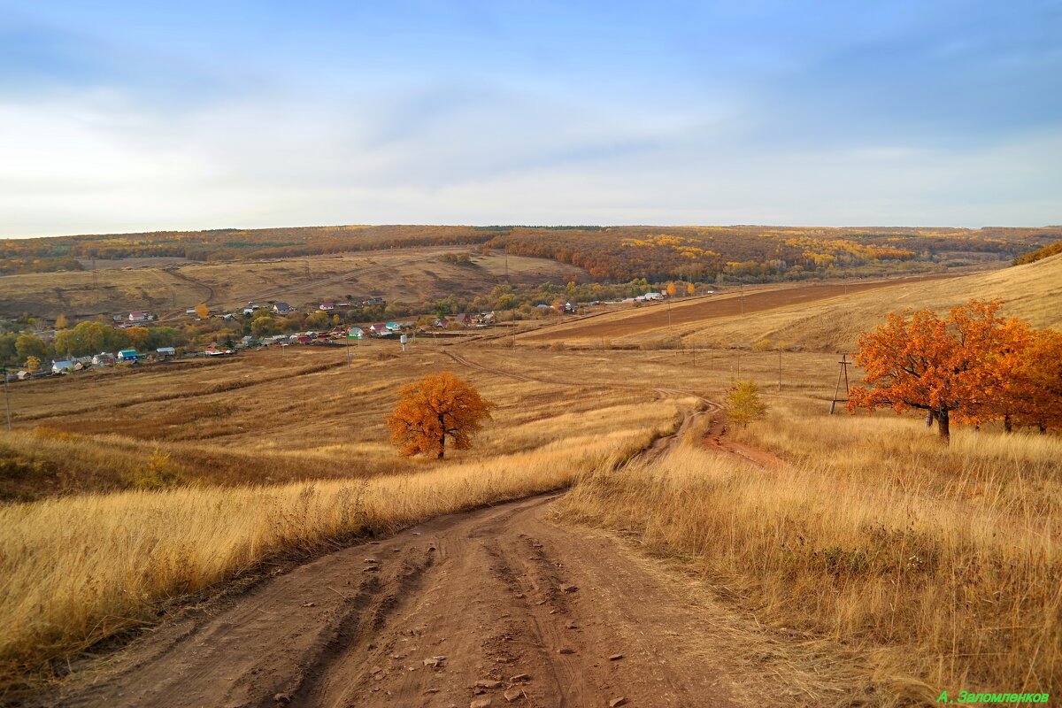
{"type": "MultiPolygon", "coordinates": [[[[223,368],[225,380],[244,381],[245,372],[264,375],[281,357],[295,355],[263,352],[213,374],[223,368]]],[[[364,357],[359,366],[220,393],[201,388],[218,381],[193,368],[171,373],[174,380],[161,373],[70,379],[34,394],[30,410],[44,414],[36,424],[50,427],[0,433],[0,477],[16,491],[40,478],[40,496],[62,496],[0,506],[0,676],[48,674],[49,660],[150,623],[160,602],[276,554],[563,487],[678,426],[676,404],[651,394],[597,392],[569,402],[545,384],[461,372],[500,403],[494,421],[475,449],[442,464],[406,460],[386,443],[381,422],[398,384],[453,363],[428,350],[364,357]],[[72,392],[98,408],[53,414],[72,392]],[[174,417],[187,405],[225,411],[174,417]],[[121,425],[104,427],[108,419],[121,425]],[[211,425],[212,433],[188,438],[211,425]],[[287,480],[312,481],[277,484],[287,480]],[[93,491],[116,487],[138,490],[93,491]]]]}

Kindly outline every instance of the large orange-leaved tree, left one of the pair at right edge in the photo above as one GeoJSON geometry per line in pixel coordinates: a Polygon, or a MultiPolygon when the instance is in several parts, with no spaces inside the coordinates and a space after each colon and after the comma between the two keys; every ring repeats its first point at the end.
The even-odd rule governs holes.
{"type": "Polygon", "coordinates": [[[849,392],[849,411],[892,408],[927,411],[940,437],[950,438],[950,419],[979,422],[994,415],[1000,392],[993,368],[1013,346],[1017,321],[997,315],[998,300],[971,300],[947,318],[920,310],[909,318],[895,312],[859,338],[856,364],[867,385],[849,392]]]}

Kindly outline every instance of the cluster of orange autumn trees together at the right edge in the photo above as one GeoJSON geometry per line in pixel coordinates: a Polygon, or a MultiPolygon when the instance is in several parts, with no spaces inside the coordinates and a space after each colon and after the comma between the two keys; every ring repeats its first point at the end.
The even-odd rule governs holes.
{"type": "Polygon", "coordinates": [[[946,317],[931,310],[888,321],[859,338],[863,385],[849,410],[925,411],[947,441],[953,419],[1062,429],[1062,332],[999,315],[998,300],[971,300],[946,317]]]}

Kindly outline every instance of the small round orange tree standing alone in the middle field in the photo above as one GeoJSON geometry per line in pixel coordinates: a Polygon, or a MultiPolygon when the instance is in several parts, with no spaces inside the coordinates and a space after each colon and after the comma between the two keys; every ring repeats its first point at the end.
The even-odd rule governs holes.
{"type": "Polygon", "coordinates": [[[467,450],[490,419],[495,404],[450,372],[431,374],[402,387],[395,412],[388,417],[391,444],[398,454],[433,454],[443,459],[446,438],[467,450]]]}

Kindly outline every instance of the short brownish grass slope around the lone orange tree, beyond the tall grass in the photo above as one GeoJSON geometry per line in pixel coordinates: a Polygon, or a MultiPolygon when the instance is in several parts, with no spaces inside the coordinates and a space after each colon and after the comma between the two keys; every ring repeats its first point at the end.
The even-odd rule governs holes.
{"type": "MultiPolygon", "coordinates": [[[[482,461],[572,434],[655,427],[676,413],[651,392],[569,390],[463,369],[430,344],[402,357],[374,343],[352,368],[342,348],[252,352],[224,365],[64,377],[14,387],[16,432],[0,437],[0,499],[158,486],[144,469],[169,454],[183,484],[282,484],[407,471],[383,419],[401,384],[453,369],[500,403],[469,451],[482,461]]],[[[533,353],[533,352],[529,352],[533,353]]],[[[531,358],[531,357],[529,357],[531,358]]]]}

